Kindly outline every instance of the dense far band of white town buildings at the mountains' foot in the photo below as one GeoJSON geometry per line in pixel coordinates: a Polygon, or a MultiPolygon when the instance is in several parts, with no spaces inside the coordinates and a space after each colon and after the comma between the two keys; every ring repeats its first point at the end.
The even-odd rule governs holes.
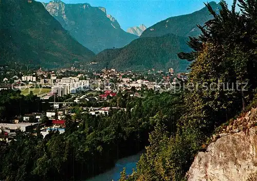
{"type": "MultiPolygon", "coordinates": [[[[50,87],[51,91],[48,94],[40,95],[43,99],[48,99],[52,95],[62,97],[64,95],[78,94],[88,90],[103,92],[112,89],[113,93],[104,93],[103,95],[100,95],[100,99],[106,99],[108,96],[114,97],[115,93],[119,90],[131,89],[132,87],[135,87],[137,91],[140,91],[142,87],[159,89],[164,86],[169,88],[172,86],[172,83],[177,81],[177,79],[172,78],[174,75],[173,68],[169,68],[167,73],[164,73],[161,70],[155,71],[155,69],[144,71],[143,73],[103,69],[100,73],[94,71],[93,76],[87,74],[91,73],[89,73],[89,71],[79,70],[74,66],[72,66],[71,69],[60,69],[57,71],[42,71],[40,68],[28,76],[24,75],[20,78],[14,76],[15,81],[18,83],[15,88],[30,88],[30,86],[34,86],[34,84],[38,84],[39,87],[50,87]],[[65,77],[67,70],[69,71],[69,77],[65,77]],[[81,71],[81,73],[78,74],[76,73],[77,71],[81,71]],[[155,82],[153,79],[150,81],[149,79],[149,76],[159,77],[160,75],[162,76],[161,82],[155,82]],[[117,81],[114,83],[112,80],[117,81]],[[23,82],[26,82],[26,84],[22,84],[23,82]]],[[[180,74],[177,76],[184,78],[184,76],[180,74]]],[[[8,78],[5,78],[3,81],[8,81],[8,78]]],[[[79,99],[76,101],[79,102],[79,99]]]]}

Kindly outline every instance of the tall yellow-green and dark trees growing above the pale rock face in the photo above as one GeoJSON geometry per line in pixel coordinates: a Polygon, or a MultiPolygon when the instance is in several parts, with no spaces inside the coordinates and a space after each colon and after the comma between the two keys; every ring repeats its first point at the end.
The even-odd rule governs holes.
{"type": "Polygon", "coordinates": [[[201,35],[190,37],[191,53],[179,53],[181,59],[193,61],[187,85],[214,83],[214,90],[199,86],[183,92],[182,114],[176,122],[176,132],[165,124],[157,124],[150,134],[137,164],[137,171],[123,180],[187,180],[186,172],[199,151],[205,151],[211,136],[222,124],[256,106],[257,66],[257,1],[234,0],[230,8],[221,1],[217,14],[209,4],[213,20],[198,26],[201,35]],[[240,12],[236,11],[236,3],[240,12]],[[219,87],[242,83],[238,89],[219,87]],[[243,87],[247,83],[247,87],[243,87]],[[244,88],[244,89],[243,89],[244,88]]]}

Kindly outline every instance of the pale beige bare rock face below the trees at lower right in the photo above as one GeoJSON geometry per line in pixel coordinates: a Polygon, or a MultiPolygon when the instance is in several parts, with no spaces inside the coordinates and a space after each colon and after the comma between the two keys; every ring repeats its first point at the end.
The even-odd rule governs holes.
{"type": "Polygon", "coordinates": [[[257,108],[224,126],[199,152],[188,180],[257,180],[257,108]]]}

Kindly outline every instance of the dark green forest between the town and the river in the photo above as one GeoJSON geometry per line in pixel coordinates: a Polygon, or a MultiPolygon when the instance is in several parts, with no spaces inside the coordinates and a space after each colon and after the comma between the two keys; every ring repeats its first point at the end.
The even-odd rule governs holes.
{"type": "Polygon", "coordinates": [[[127,111],[113,109],[108,115],[95,116],[74,107],[76,115],[65,116],[64,134],[51,132],[43,138],[40,127],[31,133],[18,132],[15,140],[0,144],[0,178],[70,180],[99,174],[112,168],[117,159],[144,149],[157,124],[175,133],[180,96],[153,91],[145,98],[118,94],[111,104],[127,111]]]}

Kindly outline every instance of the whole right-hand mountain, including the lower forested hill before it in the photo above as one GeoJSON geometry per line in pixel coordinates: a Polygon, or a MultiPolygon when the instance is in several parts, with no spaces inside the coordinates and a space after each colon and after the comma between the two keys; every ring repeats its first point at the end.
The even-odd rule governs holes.
{"type": "MultiPolygon", "coordinates": [[[[211,2],[212,8],[218,12],[220,5],[211,2]]],[[[212,19],[208,8],[176,17],[169,17],[143,31],[139,39],[119,49],[104,50],[94,58],[101,68],[107,63],[118,69],[142,70],[149,68],[185,71],[189,62],[180,60],[178,52],[190,52],[188,36],[197,36],[200,30],[196,25],[204,25],[212,19]]]]}

